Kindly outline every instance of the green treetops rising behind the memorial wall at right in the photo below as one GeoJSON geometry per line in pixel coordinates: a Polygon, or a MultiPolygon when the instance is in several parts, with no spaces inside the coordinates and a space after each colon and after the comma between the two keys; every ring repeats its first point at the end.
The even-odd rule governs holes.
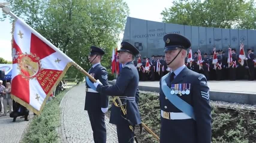
{"type": "Polygon", "coordinates": [[[254,1],[180,0],[165,8],[163,22],[216,28],[255,29],[254,1]]]}

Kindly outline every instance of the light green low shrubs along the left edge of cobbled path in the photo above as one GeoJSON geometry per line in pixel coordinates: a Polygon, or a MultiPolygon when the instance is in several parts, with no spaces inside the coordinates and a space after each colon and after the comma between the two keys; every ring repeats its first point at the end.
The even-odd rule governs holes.
{"type": "Polygon", "coordinates": [[[57,98],[50,100],[40,116],[35,116],[25,131],[22,142],[24,143],[57,143],[59,142],[57,128],[60,126],[59,104],[67,93],[58,94],[57,98]]]}

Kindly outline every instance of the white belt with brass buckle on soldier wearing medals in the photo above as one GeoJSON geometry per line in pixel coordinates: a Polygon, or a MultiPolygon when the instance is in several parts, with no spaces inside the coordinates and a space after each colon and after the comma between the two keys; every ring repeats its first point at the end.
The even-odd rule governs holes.
{"type": "Polygon", "coordinates": [[[161,116],[165,119],[170,120],[183,120],[183,119],[192,119],[190,116],[183,112],[165,112],[161,110],[161,116]]]}

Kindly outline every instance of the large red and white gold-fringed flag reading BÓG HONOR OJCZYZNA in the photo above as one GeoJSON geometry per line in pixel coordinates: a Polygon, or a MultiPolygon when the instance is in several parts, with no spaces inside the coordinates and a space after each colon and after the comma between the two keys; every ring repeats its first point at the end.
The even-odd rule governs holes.
{"type": "Polygon", "coordinates": [[[73,60],[19,18],[12,33],[11,97],[40,114],[73,60]]]}

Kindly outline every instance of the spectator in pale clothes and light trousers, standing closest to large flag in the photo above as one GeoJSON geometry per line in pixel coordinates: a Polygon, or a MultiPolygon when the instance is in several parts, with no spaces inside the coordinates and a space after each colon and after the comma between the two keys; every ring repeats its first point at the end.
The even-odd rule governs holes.
{"type": "Polygon", "coordinates": [[[3,95],[3,102],[4,102],[4,115],[7,114],[7,104],[10,107],[10,112],[13,111],[13,103],[12,103],[12,99],[11,99],[11,86],[10,86],[10,82],[6,83],[6,88],[3,89],[2,92],[3,95]]]}

